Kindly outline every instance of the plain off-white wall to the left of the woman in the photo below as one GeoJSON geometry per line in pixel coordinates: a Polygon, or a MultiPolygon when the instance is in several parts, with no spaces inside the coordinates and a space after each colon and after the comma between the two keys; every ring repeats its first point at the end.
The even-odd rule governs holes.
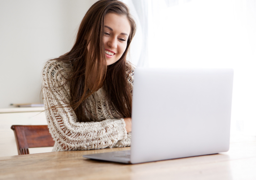
{"type": "Polygon", "coordinates": [[[0,0],[0,108],[40,102],[47,59],[68,52],[97,0],[0,0]]]}

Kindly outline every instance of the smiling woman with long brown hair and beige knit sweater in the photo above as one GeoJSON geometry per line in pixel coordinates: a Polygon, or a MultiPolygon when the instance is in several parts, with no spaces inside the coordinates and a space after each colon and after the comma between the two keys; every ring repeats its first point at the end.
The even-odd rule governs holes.
{"type": "Polygon", "coordinates": [[[85,14],[73,48],[46,63],[53,151],[130,146],[133,68],[126,56],[135,31],[124,3],[100,0],[85,14]]]}

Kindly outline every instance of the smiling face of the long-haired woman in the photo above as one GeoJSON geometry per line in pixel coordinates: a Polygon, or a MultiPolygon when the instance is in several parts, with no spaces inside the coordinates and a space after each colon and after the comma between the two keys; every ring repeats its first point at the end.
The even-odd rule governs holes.
{"type": "Polygon", "coordinates": [[[126,16],[107,13],[104,18],[104,48],[107,66],[118,61],[127,46],[131,26],[126,16]]]}

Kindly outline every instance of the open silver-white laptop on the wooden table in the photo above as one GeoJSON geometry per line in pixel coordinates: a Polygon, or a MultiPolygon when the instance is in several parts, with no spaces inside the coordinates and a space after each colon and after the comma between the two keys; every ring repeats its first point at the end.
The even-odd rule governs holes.
{"type": "Polygon", "coordinates": [[[83,157],[134,164],[226,152],[232,87],[232,69],[137,67],[131,150],[83,157]]]}

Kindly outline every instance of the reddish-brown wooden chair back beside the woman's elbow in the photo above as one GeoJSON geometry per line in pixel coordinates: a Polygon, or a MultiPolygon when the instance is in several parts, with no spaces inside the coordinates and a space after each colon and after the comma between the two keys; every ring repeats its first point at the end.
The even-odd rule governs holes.
{"type": "Polygon", "coordinates": [[[54,140],[51,137],[47,125],[22,126],[13,125],[17,149],[19,155],[28,155],[29,147],[53,147],[54,140]]]}

